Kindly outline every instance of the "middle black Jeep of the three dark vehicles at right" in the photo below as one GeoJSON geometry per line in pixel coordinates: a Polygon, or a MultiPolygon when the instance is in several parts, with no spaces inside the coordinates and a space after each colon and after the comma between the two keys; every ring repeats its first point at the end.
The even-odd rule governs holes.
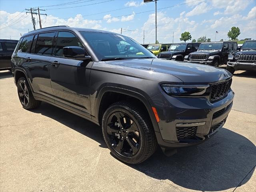
{"type": "Polygon", "coordinates": [[[237,42],[206,42],[200,44],[196,52],[185,56],[184,60],[191,63],[219,66],[227,64],[228,55],[237,51],[237,42]]]}

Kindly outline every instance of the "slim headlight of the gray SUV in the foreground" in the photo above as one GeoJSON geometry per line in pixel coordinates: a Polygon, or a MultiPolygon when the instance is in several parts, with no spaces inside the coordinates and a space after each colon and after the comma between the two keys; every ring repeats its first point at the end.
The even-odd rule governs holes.
{"type": "Polygon", "coordinates": [[[172,85],[162,84],[164,92],[172,96],[204,95],[209,85],[172,85]]]}

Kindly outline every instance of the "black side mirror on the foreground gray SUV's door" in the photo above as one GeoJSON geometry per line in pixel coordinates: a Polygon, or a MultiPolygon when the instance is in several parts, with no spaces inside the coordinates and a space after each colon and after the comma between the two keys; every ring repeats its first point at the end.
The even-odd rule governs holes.
{"type": "Polygon", "coordinates": [[[63,48],[63,56],[66,58],[73,58],[73,59],[88,59],[90,56],[85,55],[86,52],[82,47],[78,46],[69,46],[63,48]]]}

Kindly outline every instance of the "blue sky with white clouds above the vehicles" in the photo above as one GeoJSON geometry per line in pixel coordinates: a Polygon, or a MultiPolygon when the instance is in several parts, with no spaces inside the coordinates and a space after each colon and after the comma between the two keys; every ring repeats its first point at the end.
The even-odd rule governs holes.
{"type": "MultiPolygon", "coordinates": [[[[30,7],[46,9],[41,11],[48,15],[41,17],[43,27],[68,25],[118,33],[123,28],[132,30],[123,34],[140,43],[145,30],[145,43],[155,40],[155,3],[142,0],[1,0],[0,38],[18,39],[20,33],[33,30],[31,16],[24,11],[30,7]]],[[[206,35],[212,41],[218,31],[216,40],[227,40],[232,26],[240,27],[238,39],[256,39],[256,0],[158,0],[157,8],[159,42],[172,42],[173,32],[174,42],[180,42],[184,31],[192,39],[206,35]]]]}

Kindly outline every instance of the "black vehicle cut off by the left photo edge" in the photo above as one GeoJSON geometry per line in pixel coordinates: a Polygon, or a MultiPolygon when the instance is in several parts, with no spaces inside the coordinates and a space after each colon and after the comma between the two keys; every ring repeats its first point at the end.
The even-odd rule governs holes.
{"type": "Polygon", "coordinates": [[[12,53],[18,40],[0,39],[0,70],[11,69],[12,53]]]}

